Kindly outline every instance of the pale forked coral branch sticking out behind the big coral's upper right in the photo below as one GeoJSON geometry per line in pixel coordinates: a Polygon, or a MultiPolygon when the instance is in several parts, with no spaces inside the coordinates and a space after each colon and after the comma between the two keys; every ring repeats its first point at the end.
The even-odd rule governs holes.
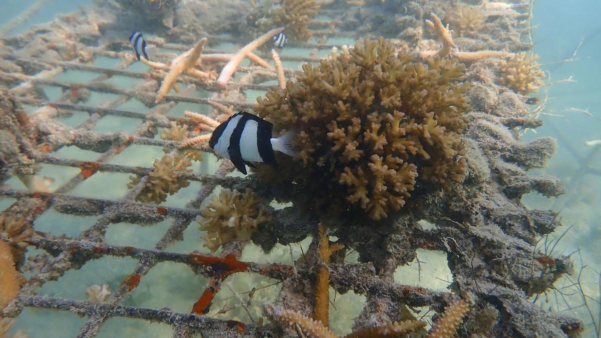
{"type": "Polygon", "coordinates": [[[442,40],[442,48],[437,51],[428,50],[421,51],[419,55],[426,59],[429,57],[449,57],[453,56],[462,62],[474,62],[485,58],[507,58],[513,55],[513,53],[501,52],[501,51],[479,51],[479,52],[461,52],[457,49],[457,45],[453,42],[451,36],[451,30],[449,25],[442,25],[441,19],[435,14],[430,14],[430,20],[426,20],[426,25],[434,29],[436,34],[442,40]]]}

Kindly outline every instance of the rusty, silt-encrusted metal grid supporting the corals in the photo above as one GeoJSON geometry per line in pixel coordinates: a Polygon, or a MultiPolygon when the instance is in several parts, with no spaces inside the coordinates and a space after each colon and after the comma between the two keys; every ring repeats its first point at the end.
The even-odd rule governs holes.
{"type": "MultiPolygon", "coordinates": [[[[85,16],[85,10],[82,11],[83,13],[79,13],[78,15],[85,16]]],[[[335,23],[335,21],[316,20],[313,24],[313,28],[318,31],[318,35],[324,33],[331,37],[349,36],[349,34],[335,32],[333,29],[319,32],[319,29],[332,26],[333,23],[335,23]]],[[[25,36],[31,36],[32,34],[36,34],[36,32],[30,31],[26,33],[25,36]]],[[[224,37],[222,35],[209,36],[208,38],[210,41],[235,41],[243,43],[243,41],[238,41],[231,37],[224,37]]],[[[55,189],[53,192],[24,191],[11,188],[0,189],[1,196],[17,198],[18,200],[12,206],[8,207],[5,212],[27,214],[29,221],[34,220],[51,207],[54,207],[58,212],[64,214],[100,215],[100,218],[98,218],[91,227],[76,238],[56,238],[54,236],[44,236],[43,234],[38,233],[31,239],[32,246],[47,251],[51,256],[46,255],[47,260],[41,265],[39,272],[35,274],[34,277],[28,279],[22,287],[19,297],[7,307],[5,313],[7,315],[17,315],[23,307],[41,307],[76,312],[79,315],[87,316],[87,321],[83,327],[81,327],[78,337],[95,336],[99,333],[99,330],[102,330],[103,322],[105,322],[106,319],[115,316],[163,322],[171,325],[174,329],[174,337],[191,337],[195,336],[197,333],[202,333],[206,336],[219,336],[219,334],[225,336],[277,335],[278,333],[272,331],[272,328],[258,325],[257,323],[248,324],[238,321],[227,321],[202,316],[201,314],[207,312],[212,297],[219,290],[225,278],[229,275],[234,273],[253,272],[274,278],[275,280],[285,281],[297,273],[294,266],[240,262],[237,258],[242,253],[244,244],[239,242],[227,245],[220,257],[196,253],[178,254],[166,250],[167,245],[180,238],[184,230],[190,226],[195,217],[200,214],[199,208],[201,204],[217,186],[236,189],[243,189],[246,187],[257,188],[257,186],[255,186],[257,185],[257,182],[228,176],[228,173],[232,170],[232,167],[228,162],[222,163],[215,174],[178,173],[178,177],[202,183],[202,188],[198,191],[195,198],[189,201],[184,207],[157,206],[154,204],[137,203],[133,201],[133,198],[135,198],[145,185],[145,182],[147,182],[147,176],[145,175],[150,173],[152,168],[108,163],[115,155],[133,144],[176,149],[178,143],[175,141],[157,140],[155,138],[147,137],[147,135],[152,134],[153,128],[168,128],[171,121],[188,123],[193,126],[192,122],[189,120],[179,117],[166,117],[166,114],[175,109],[178,103],[188,102],[207,105],[210,102],[217,102],[233,106],[236,110],[251,109],[252,104],[237,99],[224,99],[221,96],[218,96],[218,91],[212,84],[207,85],[187,78],[186,81],[191,82],[196,87],[215,93],[215,96],[210,98],[191,97],[188,96],[188,94],[190,94],[191,91],[194,91],[195,87],[188,87],[177,95],[165,96],[164,103],[153,106],[152,102],[155,97],[154,90],[156,90],[157,87],[155,80],[160,78],[159,74],[151,72],[149,75],[148,73],[127,70],[127,67],[133,59],[123,57],[123,54],[130,53],[129,51],[123,52],[119,50],[124,46],[123,41],[112,41],[112,43],[103,41],[105,45],[100,47],[94,45],[94,43],[97,42],[98,41],[88,41],[86,43],[86,52],[93,55],[91,60],[96,57],[121,58],[121,63],[116,67],[106,68],[76,61],[48,61],[37,57],[22,57],[22,55],[19,55],[18,53],[13,55],[2,55],[3,58],[12,60],[22,65],[23,68],[26,67],[29,70],[35,70],[35,72],[29,72],[29,74],[0,73],[0,79],[2,81],[13,84],[11,89],[13,93],[25,94],[22,82],[28,84],[25,85],[25,88],[51,86],[63,89],[63,97],[58,100],[53,100],[52,102],[35,97],[18,97],[19,102],[24,105],[41,107],[38,111],[31,114],[32,119],[38,118],[37,123],[44,123],[44,121],[55,118],[59,111],[70,111],[77,114],[87,113],[90,115],[84,122],[70,131],[69,143],[57,139],[58,141],[56,143],[41,144],[41,152],[35,158],[40,164],[81,168],[81,172],[67,180],[66,183],[59,186],[59,188],[55,189]],[[56,80],[56,75],[64,72],[64,70],[84,70],[86,72],[97,73],[97,77],[85,84],[56,80]],[[48,74],[51,76],[47,76],[48,74]],[[117,85],[104,82],[115,75],[139,79],[139,82],[131,89],[123,89],[117,85]],[[118,97],[117,99],[105,102],[100,106],[69,102],[70,97],[74,95],[77,96],[77,91],[80,90],[117,94],[118,97]],[[132,98],[141,101],[145,105],[153,106],[153,108],[145,113],[118,109],[122,103],[127,102],[127,100],[132,98]],[[140,124],[132,135],[124,135],[121,132],[98,133],[90,131],[99,120],[109,115],[136,118],[140,120],[140,124]],[[78,146],[81,149],[93,150],[94,152],[100,153],[100,155],[96,161],[78,161],[76,159],[60,158],[52,154],[60,147],[67,144],[78,146]],[[145,177],[139,181],[135,188],[130,189],[122,198],[116,200],[78,197],[70,194],[73,189],[98,171],[139,174],[145,177]],[[125,220],[128,223],[148,224],[162,221],[166,218],[172,218],[171,226],[169,226],[168,230],[163,234],[162,238],[160,238],[152,250],[135,247],[119,247],[103,242],[103,234],[111,223],[125,220]],[[93,304],[88,301],[68,300],[35,294],[35,291],[47,281],[61,278],[61,276],[69,269],[79,268],[89,260],[106,255],[132,257],[139,260],[135,269],[133,269],[129,276],[123,280],[119,289],[115,290],[112,297],[109,298],[106,303],[93,304]],[[186,265],[189,265],[196,274],[205,275],[211,278],[209,284],[204,288],[203,297],[201,297],[196,304],[193,304],[192,302],[190,304],[193,312],[197,314],[175,313],[170,310],[141,309],[121,304],[124,297],[131,293],[132,290],[138,286],[139,281],[159,262],[185,263],[186,265]]],[[[298,47],[305,49],[330,49],[332,46],[333,45],[322,43],[306,43],[298,47]]],[[[189,46],[166,43],[162,48],[186,51],[189,46]]],[[[221,53],[232,51],[207,49],[205,52],[221,53]]],[[[266,54],[259,53],[259,55],[265,56],[266,54]]],[[[319,60],[319,58],[316,57],[289,57],[286,55],[282,55],[281,58],[283,61],[299,62],[313,62],[319,60]]],[[[240,67],[238,72],[250,74],[256,70],[255,67],[240,67]]],[[[293,72],[294,70],[287,69],[288,76],[293,72]]],[[[244,90],[267,89],[269,89],[269,86],[255,83],[231,82],[228,85],[228,90],[232,93],[239,93],[244,90]]],[[[526,123],[527,122],[528,121],[526,121],[526,123]]],[[[60,134],[60,131],[56,131],[56,133],[60,134]]],[[[257,188],[257,190],[260,189],[257,188]]],[[[532,214],[532,216],[534,217],[534,214],[532,214]]],[[[540,222],[543,222],[546,219],[544,216],[541,216],[540,218],[543,219],[540,222]]],[[[290,219],[291,218],[287,218],[287,220],[290,219]]],[[[303,220],[302,217],[299,217],[298,219],[303,220]]],[[[308,229],[308,225],[301,221],[299,221],[298,224],[277,224],[278,221],[275,220],[273,223],[273,226],[276,228],[297,227],[308,229]]],[[[441,230],[433,230],[432,232],[416,231],[415,234],[419,233],[422,240],[421,244],[418,244],[418,246],[429,250],[443,250],[452,253],[453,248],[449,247],[450,242],[439,242],[438,238],[448,238],[445,236],[451,236],[453,234],[457,235],[457,232],[454,232],[454,230],[451,229],[453,227],[453,224],[447,223],[447,227],[441,230]]],[[[311,230],[307,230],[307,233],[310,232],[311,230]]],[[[455,244],[459,245],[457,242],[455,244]]],[[[453,245],[451,244],[451,246],[453,245]]],[[[469,260],[469,258],[466,257],[462,257],[461,259],[457,258],[457,260],[462,259],[469,260]]],[[[474,269],[474,258],[472,257],[471,260],[472,269],[474,269]]],[[[456,262],[456,264],[459,263],[456,262]]],[[[451,297],[451,293],[448,292],[439,292],[428,290],[423,287],[391,283],[386,278],[377,276],[371,265],[334,265],[330,270],[331,284],[335,289],[351,289],[357,293],[368,295],[368,297],[369,295],[378,295],[378,297],[385,297],[389,301],[403,303],[409,307],[432,306],[440,310],[451,297]]],[[[307,273],[307,271],[305,271],[305,273],[307,273]]],[[[478,286],[478,283],[475,281],[474,283],[479,289],[480,286],[478,286]]],[[[490,284],[487,285],[484,283],[481,283],[481,287],[489,287],[488,293],[492,293],[496,289],[496,286],[490,286],[490,284]]],[[[368,307],[373,307],[375,306],[374,304],[374,300],[368,298],[368,307]]],[[[575,327],[579,325],[578,321],[570,322],[565,318],[561,318],[560,321],[561,325],[573,325],[575,327]]]]}

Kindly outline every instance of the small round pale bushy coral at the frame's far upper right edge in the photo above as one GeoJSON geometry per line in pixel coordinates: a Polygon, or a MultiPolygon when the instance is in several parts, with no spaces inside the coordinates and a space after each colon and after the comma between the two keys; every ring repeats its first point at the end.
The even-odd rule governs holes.
{"type": "Polygon", "coordinates": [[[499,83],[523,95],[538,91],[538,87],[545,83],[545,73],[540,69],[537,58],[538,55],[531,58],[528,53],[521,52],[501,60],[499,83]]]}

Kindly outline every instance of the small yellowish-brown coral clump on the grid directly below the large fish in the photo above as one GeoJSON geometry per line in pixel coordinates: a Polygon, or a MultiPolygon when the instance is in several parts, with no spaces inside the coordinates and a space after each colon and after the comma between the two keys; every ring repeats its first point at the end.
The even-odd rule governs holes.
{"type": "Polygon", "coordinates": [[[204,207],[198,223],[207,232],[204,246],[214,252],[231,241],[249,241],[258,225],[269,220],[268,208],[250,189],[221,189],[204,207]]]}

